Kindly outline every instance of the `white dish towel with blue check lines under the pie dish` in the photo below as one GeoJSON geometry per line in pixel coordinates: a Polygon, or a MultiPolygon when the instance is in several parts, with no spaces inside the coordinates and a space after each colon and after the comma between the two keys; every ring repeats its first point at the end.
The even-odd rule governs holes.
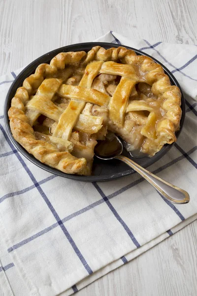
{"type": "Polygon", "coordinates": [[[0,77],[0,295],[68,296],[197,219],[197,46],[130,40],[161,61],[186,98],[177,143],[149,170],[186,189],[172,204],[137,173],[105,183],[57,177],[24,158],[4,126],[6,93],[19,71],[0,77]]]}

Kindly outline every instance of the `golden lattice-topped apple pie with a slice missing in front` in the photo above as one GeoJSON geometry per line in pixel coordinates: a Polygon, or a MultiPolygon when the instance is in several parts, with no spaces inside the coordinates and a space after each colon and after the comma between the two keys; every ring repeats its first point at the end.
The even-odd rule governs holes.
{"type": "Polygon", "coordinates": [[[147,57],[143,57],[146,67],[134,63],[130,52],[130,60],[113,58],[116,62],[93,56],[87,63],[87,54],[64,63],[65,68],[56,57],[55,66],[53,60],[50,66],[42,64],[47,65],[44,75],[36,70],[38,74],[26,78],[12,99],[14,138],[41,162],[81,175],[91,174],[97,140],[105,140],[108,132],[121,137],[135,155],[151,157],[174,142],[181,117],[180,91],[170,85],[161,66],[147,57]]]}

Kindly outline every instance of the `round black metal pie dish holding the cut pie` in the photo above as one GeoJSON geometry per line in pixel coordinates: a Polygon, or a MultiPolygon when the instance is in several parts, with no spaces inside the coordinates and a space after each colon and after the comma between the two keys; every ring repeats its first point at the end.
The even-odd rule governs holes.
{"type": "MultiPolygon", "coordinates": [[[[76,181],[85,181],[85,182],[99,182],[99,181],[110,181],[114,179],[119,179],[124,176],[128,176],[133,174],[135,171],[130,169],[125,163],[119,160],[108,160],[108,161],[102,161],[98,159],[97,157],[94,158],[94,164],[93,164],[93,171],[91,176],[79,176],[79,175],[69,175],[66,173],[63,173],[55,168],[52,168],[44,163],[41,163],[39,160],[37,160],[32,154],[28,153],[28,151],[23,148],[18,142],[16,142],[12,136],[10,126],[9,126],[9,118],[8,118],[8,110],[11,106],[11,99],[14,97],[16,90],[18,87],[22,86],[23,81],[25,80],[26,77],[30,76],[31,74],[34,73],[35,69],[37,68],[38,65],[42,63],[50,63],[51,59],[56,56],[60,52],[67,52],[67,51],[89,51],[93,46],[101,46],[104,48],[110,48],[110,47],[119,47],[119,44],[114,44],[114,43],[105,43],[105,42],[87,42],[87,43],[78,43],[78,44],[72,44],[68,46],[64,46],[55,50],[52,50],[41,57],[37,58],[34,60],[31,64],[29,64],[14,80],[12,85],[9,88],[9,91],[7,93],[6,99],[5,99],[5,105],[4,105],[4,120],[5,120],[5,126],[7,129],[8,136],[14,146],[31,162],[33,162],[35,165],[38,167],[44,169],[45,171],[48,171],[52,174],[76,180],[76,181]]],[[[121,45],[124,46],[124,45],[121,45]]],[[[137,50],[135,48],[131,48],[129,46],[124,46],[126,48],[132,49],[136,52],[137,55],[146,55],[148,57],[151,57],[150,55],[137,50]]],[[[184,123],[184,118],[185,118],[185,99],[183,96],[183,92],[180,88],[180,85],[176,78],[170,73],[170,71],[164,67],[162,63],[157,61],[155,58],[151,57],[156,63],[160,64],[164,68],[165,74],[169,76],[169,79],[171,81],[172,85],[177,85],[181,91],[181,109],[182,109],[182,117],[180,121],[180,129],[176,133],[176,137],[181,133],[183,123],[184,123]]],[[[164,147],[156,153],[153,157],[144,157],[144,158],[132,158],[129,152],[124,150],[123,155],[133,159],[136,163],[141,165],[142,167],[148,167],[149,165],[155,163],[158,161],[162,156],[164,156],[165,153],[173,146],[171,145],[164,145],[164,147]]]]}

